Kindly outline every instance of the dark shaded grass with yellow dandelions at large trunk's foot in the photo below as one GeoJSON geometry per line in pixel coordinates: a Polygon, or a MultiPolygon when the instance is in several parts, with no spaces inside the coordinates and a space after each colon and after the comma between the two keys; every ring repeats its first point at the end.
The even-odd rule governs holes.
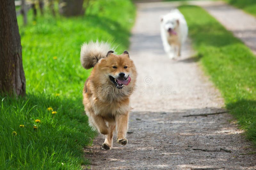
{"type": "Polygon", "coordinates": [[[28,94],[25,99],[1,99],[2,166],[69,169],[88,163],[82,157],[82,148],[92,142],[96,133],[88,126],[81,98],[71,100],[28,94]],[[52,107],[57,114],[52,114],[48,107],[52,107]],[[41,123],[35,123],[36,119],[41,123]],[[17,133],[15,138],[12,131],[17,133]]]}

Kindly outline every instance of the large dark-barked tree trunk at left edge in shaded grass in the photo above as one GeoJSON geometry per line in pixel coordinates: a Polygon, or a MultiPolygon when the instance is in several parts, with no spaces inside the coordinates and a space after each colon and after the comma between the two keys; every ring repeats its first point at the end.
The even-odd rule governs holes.
{"type": "Polygon", "coordinates": [[[7,93],[9,96],[24,96],[26,94],[21,54],[14,0],[1,0],[0,93],[7,93]]]}

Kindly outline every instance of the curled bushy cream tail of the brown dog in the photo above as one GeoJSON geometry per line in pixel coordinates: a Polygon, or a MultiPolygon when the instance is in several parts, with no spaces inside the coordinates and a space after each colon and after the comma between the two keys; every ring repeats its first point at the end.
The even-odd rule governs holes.
{"type": "Polygon", "coordinates": [[[80,61],[85,69],[89,69],[95,66],[101,58],[106,58],[106,55],[111,49],[111,44],[107,42],[96,42],[90,41],[84,43],[81,47],[80,61]]]}

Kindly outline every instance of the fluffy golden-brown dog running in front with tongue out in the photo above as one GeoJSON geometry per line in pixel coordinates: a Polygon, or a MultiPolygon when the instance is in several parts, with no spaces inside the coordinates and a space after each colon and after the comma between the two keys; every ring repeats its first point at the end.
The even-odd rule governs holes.
{"type": "Polygon", "coordinates": [[[129,97],[137,77],[129,53],[116,55],[110,49],[108,43],[90,42],[82,46],[80,58],[85,69],[93,67],[84,85],[84,110],[89,124],[106,135],[102,144],[106,150],[112,148],[114,131],[119,144],[128,142],[125,135],[131,110],[129,97]]]}

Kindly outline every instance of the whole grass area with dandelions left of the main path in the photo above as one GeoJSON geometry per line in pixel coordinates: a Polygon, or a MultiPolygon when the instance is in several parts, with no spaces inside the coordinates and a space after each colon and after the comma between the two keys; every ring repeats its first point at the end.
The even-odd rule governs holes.
{"type": "Polygon", "coordinates": [[[80,64],[80,47],[99,39],[123,52],[135,18],[129,0],[92,3],[82,17],[53,18],[46,11],[32,22],[29,11],[27,26],[18,17],[27,96],[0,96],[0,169],[81,169],[89,163],[83,147],[91,144],[95,132],[82,104],[81,90],[90,71],[80,64]]]}

